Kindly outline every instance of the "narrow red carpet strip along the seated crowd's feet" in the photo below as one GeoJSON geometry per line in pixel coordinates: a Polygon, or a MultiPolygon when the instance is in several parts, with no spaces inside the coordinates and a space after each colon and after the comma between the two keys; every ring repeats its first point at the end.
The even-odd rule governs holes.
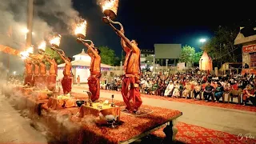
{"type": "MultiPolygon", "coordinates": [[[[114,90],[102,90],[107,93],[114,93],[114,94],[121,94],[120,91],[114,91],[114,90]]],[[[141,94],[142,98],[154,98],[154,99],[161,99],[171,102],[185,102],[190,104],[196,104],[196,105],[203,105],[203,106],[216,106],[216,107],[222,107],[226,109],[234,109],[234,110],[245,110],[245,111],[252,111],[256,112],[255,106],[242,106],[238,104],[233,103],[215,103],[215,102],[205,102],[205,101],[199,101],[194,99],[186,99],[186,98],[166,98],[162,96],[157,95],[149,95],[149,94],[141,94]]]]}

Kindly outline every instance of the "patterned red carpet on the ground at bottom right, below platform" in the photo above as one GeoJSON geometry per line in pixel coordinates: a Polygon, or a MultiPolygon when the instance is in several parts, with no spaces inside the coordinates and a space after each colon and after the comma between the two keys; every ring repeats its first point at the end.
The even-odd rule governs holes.
{"type": "MultiPolygon", "coordinates": [[[[238,143],[246,143],[246,144],[254,144],[256,143],[255,139],[250,139],[244,137],[238,137],[233,134],[227,134],[217,130],[210,130],[203,128],[201,126],[194,126],[190,124],[186,124],[183,122],[178,122],[176,124],[178,128],[178,134],[176,135],[176,139],[178,142],[184,143],[206,143],[206,144],[238,144],[238,143]]],[[[154,134],[157,137],[164,138],[165,134],[163,133],[163,128],[155,131],[154,134]]],[[[243,134],[244,136],[244,134],[243,134]]]]}

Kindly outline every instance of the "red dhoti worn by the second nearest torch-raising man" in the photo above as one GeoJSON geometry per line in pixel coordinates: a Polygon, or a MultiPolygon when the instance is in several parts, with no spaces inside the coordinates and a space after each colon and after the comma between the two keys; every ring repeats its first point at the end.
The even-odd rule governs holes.
{"type": "Polygon", "coordinates": [[[89,90],[91,92],[91,100],[94,102],[99,98],[100,92],[100,83],[99,79],[101,78],[101,74],[90,74],[88,78],[89,90]]]}

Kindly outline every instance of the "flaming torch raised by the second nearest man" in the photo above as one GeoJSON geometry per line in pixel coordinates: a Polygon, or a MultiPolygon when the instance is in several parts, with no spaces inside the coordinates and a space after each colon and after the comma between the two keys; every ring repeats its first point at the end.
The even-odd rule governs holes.
{"type": "Polygon", "coordinates": [[[78,25],[74,29],[74,34],[78,37],[77,42],[90,42],[91,46],[94,46],[94,42],[86,38],[86,30],[87,30],[87,22],[86,20],[82,20],[83,22],[78,23],[78,25]]]}

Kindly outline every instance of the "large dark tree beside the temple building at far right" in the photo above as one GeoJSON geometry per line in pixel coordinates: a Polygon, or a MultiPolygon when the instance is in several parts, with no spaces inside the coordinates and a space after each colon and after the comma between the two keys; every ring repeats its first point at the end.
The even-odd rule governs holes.
{"type": "Polygon", "coordinates": [[[214,62],[240,62],[241,46],[234,46],[238,32],[238,29],[232,27],[219,26],[214,37],[202,46],[202,50],[206,50],[214,62]]]}

